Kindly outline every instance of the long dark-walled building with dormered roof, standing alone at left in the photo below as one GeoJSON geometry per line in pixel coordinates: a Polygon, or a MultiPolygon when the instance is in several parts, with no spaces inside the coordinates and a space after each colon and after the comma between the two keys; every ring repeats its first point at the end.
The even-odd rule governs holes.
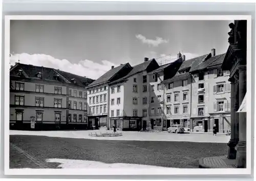
{"type": "Polygon", "coordinates": [[[10,128],[83,129],[88,127],[87,91],[94,80],[16,63],[10,69],[10,128]]]}

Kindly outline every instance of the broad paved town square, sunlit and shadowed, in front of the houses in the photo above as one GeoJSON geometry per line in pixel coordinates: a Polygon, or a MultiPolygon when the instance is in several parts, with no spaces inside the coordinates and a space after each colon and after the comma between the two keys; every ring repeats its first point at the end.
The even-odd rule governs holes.
{"type": "Polygon", "coordinates": [[[132,131],[96,138],[89,132],[10,131],[10,168],[199,168],[201,157],[226,155],[230,139],[224,134],[132,131]]]}

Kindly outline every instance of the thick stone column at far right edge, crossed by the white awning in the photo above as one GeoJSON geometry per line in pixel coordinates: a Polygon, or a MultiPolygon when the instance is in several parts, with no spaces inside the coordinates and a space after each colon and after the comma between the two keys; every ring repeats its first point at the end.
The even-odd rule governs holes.
{"type": "MultiPolygon", "coordinates": [[[[246,93],[246,65],[239,66],[239,105],[246,93]]],[[[237,167],[246,168],[246,112],[239,112],[239,142],[237,145],[237,167]]]]}

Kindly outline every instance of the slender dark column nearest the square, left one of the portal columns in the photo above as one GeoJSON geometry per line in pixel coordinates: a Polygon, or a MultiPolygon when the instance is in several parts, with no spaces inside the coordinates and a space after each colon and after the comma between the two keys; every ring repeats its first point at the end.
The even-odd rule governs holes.
{"type": "Polygon", "coordinates": [[[231,102],[230,102],[230,122],[231,122],[231,138],[228,142],[228,153],[227,157],[228,159],[236,159],[237,150],[234,149],[237,145],[236,141],[236,107],[234,107],[234,103],[236,101],[236,85],[234,83],[234,80],[230,80],[231,82],[231,102]]]}

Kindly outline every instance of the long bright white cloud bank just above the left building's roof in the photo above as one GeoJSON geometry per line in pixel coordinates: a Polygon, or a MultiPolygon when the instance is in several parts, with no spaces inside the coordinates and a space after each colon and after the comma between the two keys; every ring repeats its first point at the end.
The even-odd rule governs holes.
{"type": "Polygon", "coordinates": [[[11,65],[14,65],[18,59],[20,60],[20,63],[51,67],[53,69],[59,69],[79,76],[86,76],[91,79],[99,78],[105,72],[109,71],[112,65],[118,66],[108,60],[102,60],[101,63],[96,63],[92,60],[81,60],[78,63],[71,63],[69,60],[60,60],[50,55],[30,55],[27,53],[11,55],[11,65]]]}

